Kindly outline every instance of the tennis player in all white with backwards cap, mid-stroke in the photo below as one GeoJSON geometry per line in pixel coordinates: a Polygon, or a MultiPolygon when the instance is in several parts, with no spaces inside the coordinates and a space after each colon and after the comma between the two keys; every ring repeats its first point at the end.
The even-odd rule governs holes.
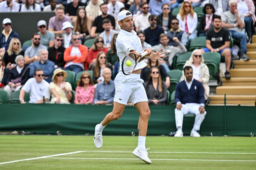
{"type": "Polygon", "coordinates": [[[148,107],[148,97],[145,88],[142,85],[144,81],[140,79],[141,69],[146,67],[147,63],[145,63],[144,61],[139,62],[136,65],[134,71],[130,75],[126,76],[122,72],[122,61],[124,56],[129,52],[140,54],[144,51],[148,51],[146,57],[156,60],[163,60],[160,57],[166,57],[165,55],[163,55],[166,52],[160,53],[162,48],[156,53],[153,50],[151,51],[151,49],[145,49],[144,51],[142,51],[140,38],[133,30],[132,14],[129,11],[125,10],[119,12],[117,19],[118,24],[121,27],[121,30],[116,38],[116,51],[117,56],[120,59],[120,70],[114,81],[116,89],[116,94],[114,97],[114,107],[112,112],[106,115],[106,117],[100,124],[97,124],[95,126],[93,141],[97,148],[101,148],[103,143],[102,130],[107,126],[108,123],[121,117],[128,100],[131,100],[140,114],[138,122],[138,146],[134,149],[132,153],[136,157],[143,160],[145,163],[151,164],[151,160],[148,158],[147,152],[147,150],[150,148],[146,149],[145,146],[150,110],[148,107]]]}

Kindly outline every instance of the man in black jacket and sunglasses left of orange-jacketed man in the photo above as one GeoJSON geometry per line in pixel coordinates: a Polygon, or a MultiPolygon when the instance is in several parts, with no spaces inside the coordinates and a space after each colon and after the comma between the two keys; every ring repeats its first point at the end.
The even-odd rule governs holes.
{"type": "Polygon", "coordinates": [[[61,67],[63,68],[65,65],[64,61],[64,51],[66,48],[64,48],[61,44],[63,42],[62,34],[57,33],[55,34],[54,38],[54,46],[51,48],[48,48],[48,58],[50,61],[54,62],[54,68],[61,67]]]}

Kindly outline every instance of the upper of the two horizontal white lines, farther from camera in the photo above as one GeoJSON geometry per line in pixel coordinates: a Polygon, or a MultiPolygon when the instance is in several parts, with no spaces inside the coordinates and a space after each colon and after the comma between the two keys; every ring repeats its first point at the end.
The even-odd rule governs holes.
{"type": "MultiPolygon", "coordinates": [[[[132,153],[131,151],[84,151],[84,152],[132,153]]],[[[256,153],[236,153],[236,152],[148,152],[148,153],[256,154],[256,153]]]]}

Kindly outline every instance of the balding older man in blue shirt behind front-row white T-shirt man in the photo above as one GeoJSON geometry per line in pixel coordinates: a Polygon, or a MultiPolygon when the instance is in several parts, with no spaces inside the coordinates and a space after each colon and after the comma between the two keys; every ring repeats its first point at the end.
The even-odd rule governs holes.
{"type": "Polygon", "coordinates": [[[40,60],[33,62],[29,65],[30,71],[29,76],[33,77],[34,70],[42,69],[44,71],[44,80],[48,83],[52,81],[52,74],[54,70],[54,63],[48,60],[48,50],[47,49],[40,49],[39,51],[40,60]]]}

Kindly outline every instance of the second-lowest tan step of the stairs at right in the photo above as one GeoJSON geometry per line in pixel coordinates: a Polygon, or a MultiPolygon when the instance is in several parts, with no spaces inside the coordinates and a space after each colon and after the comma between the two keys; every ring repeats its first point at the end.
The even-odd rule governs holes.
{"type": "Polygon", "coordinates": [[[230,94],[230,95],[256,95],[256,85],[225,85],[216,87],[216,94],[230,94]]]}

